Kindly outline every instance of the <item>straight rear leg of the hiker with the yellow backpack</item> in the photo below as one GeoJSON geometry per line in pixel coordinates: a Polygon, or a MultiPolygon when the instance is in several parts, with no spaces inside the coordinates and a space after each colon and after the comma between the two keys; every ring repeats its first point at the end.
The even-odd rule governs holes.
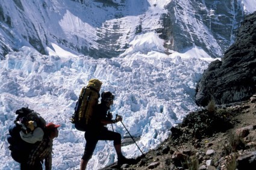
{"type": "Polygon", "coordinates": [[[86,169],[87,163],[92,158],[93,151],[98,142],[98,139],[93,132],[84,133],[84,138],[86,139],[86,147],[84,148],[84,154],[80,162],[80,170],[86,169]]]}

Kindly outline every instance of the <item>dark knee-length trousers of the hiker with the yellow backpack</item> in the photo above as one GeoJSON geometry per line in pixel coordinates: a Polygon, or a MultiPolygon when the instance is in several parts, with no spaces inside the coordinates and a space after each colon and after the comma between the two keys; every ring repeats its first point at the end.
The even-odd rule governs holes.
{"type": "Polygon", "coordinates": [[[99,132],[87,130],[86,133],[84,133],[84,138],[86,139],[86,148],[84,148],[82,159],[86,161],[92,158],[93,151],[98,141],[114,141],[114,145],[121,144],[120,133],[110,131],[107,127],[103,127],[99,132]]]}

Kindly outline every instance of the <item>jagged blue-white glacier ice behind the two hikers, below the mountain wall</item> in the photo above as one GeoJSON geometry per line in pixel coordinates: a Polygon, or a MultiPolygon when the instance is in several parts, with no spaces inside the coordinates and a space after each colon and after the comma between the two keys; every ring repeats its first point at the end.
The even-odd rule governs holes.
{"type": "MultiPolygon", "coordinates": [[[[144,39],[140,44],[143,48],[147,41],[144,39]]],[[[155,44],[155,49],[157,46],[155,44]]],[[[16,117],[14,111],[29,106],[46,121],[61,124],[60,135],[54,141],[53,168],[78,168],[84,134],[74,129],[69,117],[81,88],[95,77],[103,82],[101,91],[116,94],[111,112],[123,116],[131,135],[141,137],[137,141],[140,149],[146,152],[157,147],[169,135],[170,127],[196,109],[196,82],[208,62],[193,55],[181,58],[154,51],[143,54],[137,50],[130,50],[134,54],[122,58],[98,60],[89,56],[66,58],[60,49],[55,51],[60,52],[58,56],[39,55],[28,47],[8,54],[0,62],[1,134],[7,133],[16,117]]],[[[114,130],[128,136],[120,123],[114,125],[114,130]]],[[[7,147],[5,142],[0,152],[2,169],[18,168],[19,164],[10,159],[7,147]]],[[[134,144],[123,147],[123,153],[127,157],[140,155],[134,144]]],[[[101,141],[89,167],[96,169],[113,163],[115,156],[111,142],[101,141]]]]}

